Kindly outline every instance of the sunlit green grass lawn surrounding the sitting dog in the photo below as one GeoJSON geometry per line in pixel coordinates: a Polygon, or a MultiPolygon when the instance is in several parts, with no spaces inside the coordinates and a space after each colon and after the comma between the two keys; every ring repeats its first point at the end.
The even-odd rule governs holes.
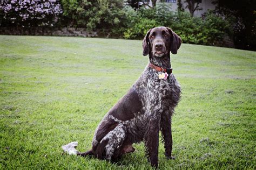
{"type": "MultiPolygon", "coordinates": [[[[256,168],[256,52],[182,44],[171,55],[182,98],[173,155],[159,169],[256,168]]],[[[149,169],[144,144],[116,164],[86,151],[106,112],[147,65],[142,41],[0,36],[0,169],[149,169]]]]}

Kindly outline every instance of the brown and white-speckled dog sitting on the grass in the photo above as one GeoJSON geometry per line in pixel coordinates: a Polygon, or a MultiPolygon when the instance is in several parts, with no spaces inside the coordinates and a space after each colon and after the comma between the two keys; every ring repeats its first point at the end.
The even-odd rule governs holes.
{"type": "Polygon", "coordinates": [[[172,157],[171,117],[180,100],[180,84],[172,74],[170,52],[177,54],[181,38],[169,27],[154,27],[143,39],[143,55],[149,64],[139,79],[99,123],[91,150],[80,153],[77,142],[62,146],[65,152],[117,160],[134,152],[133,143],[144,141],[147,159],[158,167],[159,131],[166,158],[172,157]]]}

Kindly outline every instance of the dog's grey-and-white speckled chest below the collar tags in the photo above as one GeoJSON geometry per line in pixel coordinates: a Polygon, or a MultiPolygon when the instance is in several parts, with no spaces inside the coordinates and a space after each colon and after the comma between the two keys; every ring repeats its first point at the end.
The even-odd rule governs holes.
{"type": "Polygon", "coordinates": [[[159,73],[152,69],[144,71],[134,84],[143,105],[143,112],[152,114],[153,110],[165,112],[173,109],[180,98],[180,85],[174,75],[170,79],[159,79],[159,73]]]}

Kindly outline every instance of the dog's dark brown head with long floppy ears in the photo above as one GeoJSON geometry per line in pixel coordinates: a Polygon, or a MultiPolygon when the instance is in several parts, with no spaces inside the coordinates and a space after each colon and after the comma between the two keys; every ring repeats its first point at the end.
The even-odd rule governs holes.
{"type": "Polygon", "coordinates": [[[143,39],[143,55],[152,54],[162,57],[170,54],[177,54],[181,45],[181,38],[169,27],[155,27],[147,31],[143,39]]]}

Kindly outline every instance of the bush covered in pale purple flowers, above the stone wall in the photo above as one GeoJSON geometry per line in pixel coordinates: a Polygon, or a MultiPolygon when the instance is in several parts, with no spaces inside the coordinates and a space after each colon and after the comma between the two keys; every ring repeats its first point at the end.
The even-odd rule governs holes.
{"type": "Polygon", "coordinates": [[[0,5],[4,26],[42,26],[56,23],[56,17],[62,13],[56,0],[11,0],[0,5]]]}

